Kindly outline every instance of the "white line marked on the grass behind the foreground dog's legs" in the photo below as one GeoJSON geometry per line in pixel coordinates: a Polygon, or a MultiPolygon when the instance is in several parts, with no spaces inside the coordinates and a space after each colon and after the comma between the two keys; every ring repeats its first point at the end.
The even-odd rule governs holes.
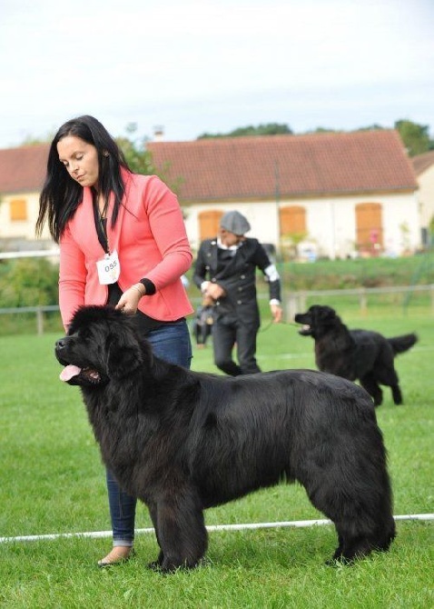
{"type": "MultiPolygon", "coordinates": [[[[434,520],[434,514],[404,514],[393,516],[395,520],[434,520]]],[[[330,520],[291,520],[277,523],[247,523],[247,524],[211,524],[208,531],[242,531],[244,529],[271,529],[281,526],[313,526],[317,524],[332,524],[330,520]]],[[[136,534],[153,533],[153,527],[136,529],[136,534]]],[[[35,542],[42,540],[60,539],[61,537],[111,537],[112,531],[91,531],[88,533],[54,533],[46,535],[19,535],[18,537],[0,537],[0,544],[6,542],[35,542]]]]}

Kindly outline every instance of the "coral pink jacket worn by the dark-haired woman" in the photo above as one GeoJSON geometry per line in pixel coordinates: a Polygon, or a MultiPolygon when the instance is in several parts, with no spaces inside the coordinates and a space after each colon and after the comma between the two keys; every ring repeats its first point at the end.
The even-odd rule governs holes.
{"type": "MultiPolygon", "coordinates": [[[[162,321],[191,314],[180,277],[192,264],[192,251],[176,196],[156,175],[123,171],[123,181],[123,205],[113,228],[113,195],[107,210],[108,245],[117,251],[121,266],[119,286],[124,291],[147,277],[157,291],[140,300],[144,314],[162,321]]],[[[108,288],[99,283],[96,268],[103,258],[92,192],[84,187],[83,202],[60,239],[59,304],[65,326],[79,306],[107,302],[108,288]]]]}

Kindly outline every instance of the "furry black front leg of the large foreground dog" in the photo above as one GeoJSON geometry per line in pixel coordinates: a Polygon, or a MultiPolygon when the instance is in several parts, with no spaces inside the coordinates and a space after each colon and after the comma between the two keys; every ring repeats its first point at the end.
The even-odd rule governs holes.
{"type": "Polygon", "coordinates": [[[167,489],[156,506],[154,525],[161,547],[157,568],[168,573],[197,566],[206,552],[208,534],[193,487],[167,489]]]}

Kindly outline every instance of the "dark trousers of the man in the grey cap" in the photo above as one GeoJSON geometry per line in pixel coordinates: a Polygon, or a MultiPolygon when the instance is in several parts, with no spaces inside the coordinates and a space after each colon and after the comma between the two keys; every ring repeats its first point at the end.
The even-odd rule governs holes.
{"type": "Polygon", "coordinates": [[[259,330],[259,320],[252,322],[230,320],[225,317],[214,319],[212,325],[212,346],[214,364],[225,374],[256,374],[261,368],[256,362],[256,334],[259,330]],[[236,364],[232,359],[232,350],[236,344],[236,364]]]}

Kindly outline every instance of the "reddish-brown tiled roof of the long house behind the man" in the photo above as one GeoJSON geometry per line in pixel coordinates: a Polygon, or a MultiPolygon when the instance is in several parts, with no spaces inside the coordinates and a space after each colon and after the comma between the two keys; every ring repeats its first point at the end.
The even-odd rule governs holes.
{"type": "Polygon", "coordinates": [[[227,137],[152,142],[148,149],[180,199],[414,190],[413,167],[398,132],[227,137]]]}

